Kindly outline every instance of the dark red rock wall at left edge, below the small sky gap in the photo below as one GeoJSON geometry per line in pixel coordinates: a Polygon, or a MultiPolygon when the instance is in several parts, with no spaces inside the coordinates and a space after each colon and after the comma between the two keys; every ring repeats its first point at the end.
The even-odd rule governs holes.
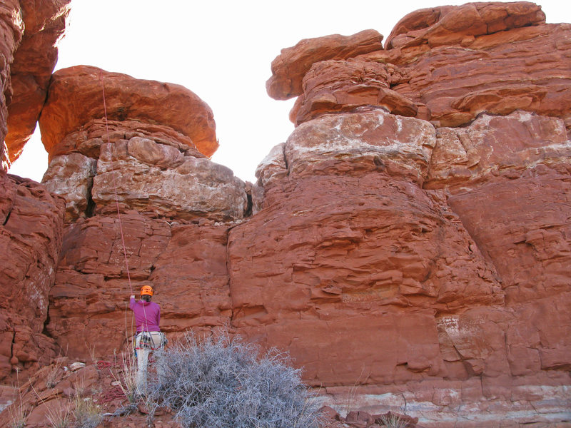
{"type": "Polygon", "coordinates": [[[0,173],[0,379],[12,366],[53,357],[46,337],[49,290],[61,250],[64,201],[32,180],[0,173]]]}

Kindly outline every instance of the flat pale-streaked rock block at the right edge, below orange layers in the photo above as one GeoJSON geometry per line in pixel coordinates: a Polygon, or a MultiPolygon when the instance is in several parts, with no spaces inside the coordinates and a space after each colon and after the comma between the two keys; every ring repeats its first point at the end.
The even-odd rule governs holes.
{"type": "Polygon", "coordinates": [[[571,156],[565,122],[515,111],[484,114],[470,126],[438,128],[427,188],[477,185],[510,174],[516,178],[537,163],[565,163],[571,156]]]}

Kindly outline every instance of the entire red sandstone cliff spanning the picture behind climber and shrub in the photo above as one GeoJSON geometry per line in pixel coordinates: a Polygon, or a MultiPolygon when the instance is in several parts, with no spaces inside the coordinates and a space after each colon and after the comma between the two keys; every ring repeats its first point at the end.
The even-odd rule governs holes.
{"type": "MultiPolygon", "coordinates": [[[[324,403],[423,426],[568,421],[570,34],[535,4],[477,3],[413,12],[385,49],[375,31],[284,49],[267,88],[299,96],[297,127],[256,185],[208,160],[191,91],[55,73],[43,184],[4,175],[0,195],[2,248],[27,245],[6,250],[10,313],[44,282],[0,322],[46,352],[126,347],[118,209],[132,287],[153,285],[172,340],[230,328],[288,350],[324,403]]],[[[0,376],[41,357],[0,332],[0,376]]]]}

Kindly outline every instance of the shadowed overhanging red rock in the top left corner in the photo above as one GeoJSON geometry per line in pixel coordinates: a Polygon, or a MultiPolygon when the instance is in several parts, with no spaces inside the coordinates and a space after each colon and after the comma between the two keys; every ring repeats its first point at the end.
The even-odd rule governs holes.
{"type": "Polygon", "coordinates": [[[56,66],[56,44],[64,34],[69,1],[9,0],[0,6],[4,41],[0,140],[5,142],[1,156],[4,170],[20,156],[36,128],[56,66]]]}

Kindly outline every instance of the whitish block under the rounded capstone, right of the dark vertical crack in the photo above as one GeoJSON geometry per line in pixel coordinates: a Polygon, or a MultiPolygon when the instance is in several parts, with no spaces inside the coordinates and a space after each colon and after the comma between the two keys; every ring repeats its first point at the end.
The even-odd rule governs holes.
{"type": "Polygon", "coordinates": [[[101,146],[91,196],[96,210],[119,198],[143,213],[181,220],[238,220],[248,206],[245,185],[229,168],[142,137],[101,146]]]}

